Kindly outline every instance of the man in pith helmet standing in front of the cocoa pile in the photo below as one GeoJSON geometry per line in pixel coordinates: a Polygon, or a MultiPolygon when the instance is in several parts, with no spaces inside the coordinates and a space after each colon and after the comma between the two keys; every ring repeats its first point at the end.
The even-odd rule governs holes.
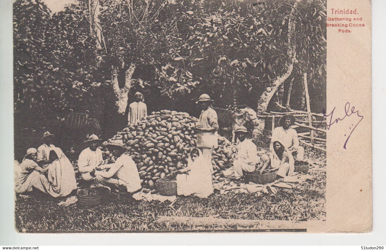
{"type": "Polygon", "coordinates": [[[212,148],[218,148],[218,122],[217,113],[211,107],[212,103],[213,100],[207,94],[202,94],[197,100],[196,104],[202,111],[195,128],[197,130],[197,147],[200,148],[206,159],[208,168],[213,172],[212,148]]]}

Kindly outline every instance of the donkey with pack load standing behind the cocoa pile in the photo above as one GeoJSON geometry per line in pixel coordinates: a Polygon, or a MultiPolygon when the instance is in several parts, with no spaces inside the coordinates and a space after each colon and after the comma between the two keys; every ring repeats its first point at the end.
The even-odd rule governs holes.
{"type": "Polygon", "coordinates": [[[251,122],[254,126],[259,124],[256,111],[250,107],[230,111],[229,109],[213,108],[217,112],[218,125],[220,133],[230,134],[232,131],[232,142],[235,143],[235,131],[244,126],[247,122],[251,122]]]}

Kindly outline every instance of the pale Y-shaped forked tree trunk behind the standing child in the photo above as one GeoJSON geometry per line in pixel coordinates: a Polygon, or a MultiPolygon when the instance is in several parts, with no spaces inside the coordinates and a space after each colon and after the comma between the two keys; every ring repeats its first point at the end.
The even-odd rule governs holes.
{"type": "Polygon", "coordinates": [[[119,88],[117,67],[111,66],[111,82],[113,84],[115,96],[118,98],[118,100],[115,102],[115,105],[117,105],[118,112],[122,115],[125,114],[127,100],[129,100],[129,97],[127,95],[130,92],[131,78],[133,76],[134,70],[135,65],[131,64],[125,72],[125,86],[123,88],[119,88]]]}

